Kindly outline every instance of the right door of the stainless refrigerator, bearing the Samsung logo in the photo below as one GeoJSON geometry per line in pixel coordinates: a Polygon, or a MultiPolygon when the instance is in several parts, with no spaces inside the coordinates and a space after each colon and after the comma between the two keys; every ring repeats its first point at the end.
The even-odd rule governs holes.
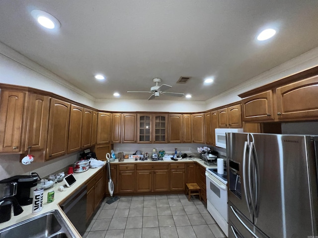
{"type": "Polygon", "coordinates": [[[254,224],[271,238],[315,236],[307,153],[313,143],[307,140],[306,136],[250,135],[258,166],[251,164],[250,180],[258,179],[251,184],[257,211],[254,224]]]}

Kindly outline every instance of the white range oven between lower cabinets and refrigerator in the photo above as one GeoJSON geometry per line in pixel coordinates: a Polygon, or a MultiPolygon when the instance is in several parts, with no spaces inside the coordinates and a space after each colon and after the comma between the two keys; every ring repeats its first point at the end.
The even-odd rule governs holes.
{"type": "Polygon", "coordinates": [[[228,186],[227,172],[218,174],[218,169],[206,169],[207,209],[228,237],[228,186]]]}

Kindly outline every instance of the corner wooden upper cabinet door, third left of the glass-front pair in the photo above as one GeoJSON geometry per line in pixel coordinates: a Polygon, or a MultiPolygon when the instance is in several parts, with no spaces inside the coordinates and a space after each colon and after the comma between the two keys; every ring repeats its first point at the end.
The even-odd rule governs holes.
{"type": "Polygon", "coordinates": [[[111,140],[111,113],[98,113],[97,144],[109,143],[111,140]]]}

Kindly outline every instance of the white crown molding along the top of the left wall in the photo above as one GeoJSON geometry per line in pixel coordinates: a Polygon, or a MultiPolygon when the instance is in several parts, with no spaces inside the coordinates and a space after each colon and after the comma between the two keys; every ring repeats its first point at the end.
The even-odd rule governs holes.
{"type": "Polygon", "coordinates": [[[78,87],[74,86],[73,84],[69,83],[65,79],[61,78],[57,74],[51,72],[50,70],[46,69],[45,67],[39,65],[38,63],[28,59],[27,57],[21,55],[17,51],[13,50],[12,48],[8,47],[7,45],[0,42],[0,54],[16,61],[17,63],[41,74],[44,77],[47,77],[51,79],[52,81],[80,94],[81,96],[90,99],[92,101],[95,101],[95,98],[91,96],[90,94],[80,90],[78,87]]]}

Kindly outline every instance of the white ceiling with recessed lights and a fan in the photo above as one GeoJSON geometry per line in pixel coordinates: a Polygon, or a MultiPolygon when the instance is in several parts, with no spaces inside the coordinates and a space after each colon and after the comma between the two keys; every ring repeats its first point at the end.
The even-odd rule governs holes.
{"type": "MultiPolygon", "coordinates": [[[[0,42],[95,98],[147,100],[153,78],[206,101],[318,47],[317,0],[1,0],[0,42]],[[30,12],[54,15],[51,32],[30,12]],[[255,41],[267,27],[278,33],[255,41]],[[106,75],[97,82],[95,73],[106,75]],[[191,76],[176,84],[180,76],[191,76]],[[213,76],[212,85],[203,79],[213,76]]],[[[160,100],[188,100],[160,95],[160,100]]]]}

